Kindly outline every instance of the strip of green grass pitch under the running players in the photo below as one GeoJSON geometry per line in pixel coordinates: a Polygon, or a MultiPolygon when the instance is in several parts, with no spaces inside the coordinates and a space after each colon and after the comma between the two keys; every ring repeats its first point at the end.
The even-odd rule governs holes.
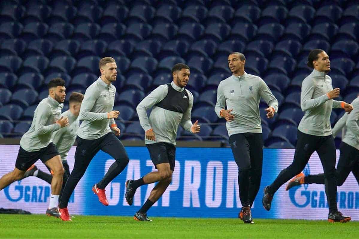
{"type": "Polygon", "coordinates": [[[75,216],[72,222],[45,215],[0,214],[0,238],[359,238],[359,222],[328,223],[325,220],[160,218],[135,221],[124,216],[75,216]]]}

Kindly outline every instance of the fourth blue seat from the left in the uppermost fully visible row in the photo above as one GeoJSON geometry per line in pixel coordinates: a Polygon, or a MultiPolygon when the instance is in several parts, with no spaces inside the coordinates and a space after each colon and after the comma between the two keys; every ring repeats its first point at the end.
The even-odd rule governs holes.
{"type": "Polygon", "coordinates": [[[98,5],[83,5],[78,8],[75,18],[72,20],[74,25],[81,23],[95,23],[102,17],[103,10],[98,5]]]}

